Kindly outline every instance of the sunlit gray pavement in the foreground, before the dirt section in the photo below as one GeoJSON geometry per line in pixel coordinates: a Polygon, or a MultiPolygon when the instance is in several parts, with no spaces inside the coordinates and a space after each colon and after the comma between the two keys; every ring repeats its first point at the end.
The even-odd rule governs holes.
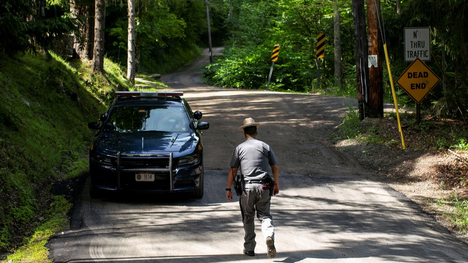
{"type": "MultiPolygon", "coordinates": [[[[225,174],[227,170],[207,171],[207,181],[221,190],[199,201],[172,196],[94,200],[85,205],[87,213],[103,208],[108,212],[56,237],[56,242],[63,239],[79,248],[84,245],[79,240],[86,239],[90,259],[96,262],[271,262],[258,220],[256,257],[242,255],[238,197],[226,201],[225,174]],[[117,251],[125,256],[114,257],[117,251]]],[[[457,249],[455,243],[441,240],[437,229],[427,227],[425,216],[408,201],[390,189],[376,190],[378,183],[301,174],[281,178],[282,190],[272,199],[278,250],[274,262],[444,262],[445,257],[431,251],[457,249]]],[[[90,259],[77,255],[69,262],[90,259]]]]}

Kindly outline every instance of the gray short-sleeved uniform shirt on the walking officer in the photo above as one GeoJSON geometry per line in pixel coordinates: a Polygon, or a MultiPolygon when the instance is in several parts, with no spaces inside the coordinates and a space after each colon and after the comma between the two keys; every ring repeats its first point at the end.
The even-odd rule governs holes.
{"type": "Polygon", "coordinates": [[[253,137],[239,144],[231,158],[231,167],[239,168],[240,173],[250,180],[263,179],[269,167],[278,163],[270,146],[253,137]]]}

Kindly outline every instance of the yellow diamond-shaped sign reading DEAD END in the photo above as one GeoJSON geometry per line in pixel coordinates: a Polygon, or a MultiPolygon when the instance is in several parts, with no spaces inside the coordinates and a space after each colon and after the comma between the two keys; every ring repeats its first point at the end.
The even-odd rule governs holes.
{"type": "Polygon", "coordinates": [[[419,58],[416,58],[396,80],[418,104],[439,82],[440,78],[419,58]]]}

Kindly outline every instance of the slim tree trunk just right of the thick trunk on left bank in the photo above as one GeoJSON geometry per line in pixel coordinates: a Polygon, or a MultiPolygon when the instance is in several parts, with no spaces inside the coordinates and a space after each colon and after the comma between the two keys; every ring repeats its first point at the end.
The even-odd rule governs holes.
{"type": "Polygon", "coordinates": [[[105,0],[96,0],[95,14],[93,71],[104,73],[105,0]]]}

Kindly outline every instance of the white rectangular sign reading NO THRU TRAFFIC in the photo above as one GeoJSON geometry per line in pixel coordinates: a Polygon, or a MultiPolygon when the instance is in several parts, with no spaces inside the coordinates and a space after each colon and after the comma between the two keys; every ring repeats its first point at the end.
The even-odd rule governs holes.
{"type": "Polygon", "coordinates": [[[405,28],[405,61],[413,62],[419,58],[422,61],[430,60],[430,28],[405,28]]]}

